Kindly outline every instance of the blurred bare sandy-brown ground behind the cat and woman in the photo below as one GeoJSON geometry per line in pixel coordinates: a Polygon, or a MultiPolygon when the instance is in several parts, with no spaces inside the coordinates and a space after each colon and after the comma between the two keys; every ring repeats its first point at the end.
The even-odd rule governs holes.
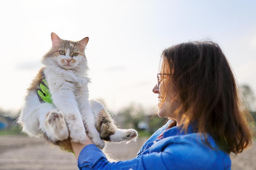
{"type": "MultiPolygon", "coordinates": [[[[109,143],[106,152],[118,160],[134,158],[137,151],[147,140],[139,139],[136,143],[109,143]]],[[[242,154],[231,156],[232,169],[256,169],[256,143],[242,154]]],[[[0,169],[1,170],[77,170],[76,158],[72,153],[60,151],[50,146],[44,139],[24,136],[0,137],[0,169]]]]}

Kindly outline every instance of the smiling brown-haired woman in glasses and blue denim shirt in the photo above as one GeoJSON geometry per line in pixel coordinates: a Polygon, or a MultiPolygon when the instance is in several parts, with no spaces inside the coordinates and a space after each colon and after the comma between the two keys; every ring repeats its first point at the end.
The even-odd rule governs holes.
{"type": "Polygon", "coordinates": [[[159,117],[170,119],[143,145],[137,157],[110,163],[87,138],[72,143],[79,169],[231,169],[229,153],[251,144],[236,81],[214,42],[187,42],[162,53],[159,117]]]}

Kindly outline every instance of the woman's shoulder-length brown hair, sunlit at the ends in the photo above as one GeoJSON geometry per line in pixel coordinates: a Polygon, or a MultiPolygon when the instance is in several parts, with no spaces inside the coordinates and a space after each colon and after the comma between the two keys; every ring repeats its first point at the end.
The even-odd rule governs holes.
{"type": "MultiPolygon", "coordinates": [[[[161,68],[169,69],[167,81],[177,87],[185,130],[190,122],[196,122],[198,133],[210,134],[228,153],[241,153],[251,145],[248,111],[219,45],[196,41],[171,46],[162,53],[161,68]]],[[[166,69],[161,70],[164,73],[166,69]]],[[[164,91],[168,94],[168,85],[164,91]]]]}

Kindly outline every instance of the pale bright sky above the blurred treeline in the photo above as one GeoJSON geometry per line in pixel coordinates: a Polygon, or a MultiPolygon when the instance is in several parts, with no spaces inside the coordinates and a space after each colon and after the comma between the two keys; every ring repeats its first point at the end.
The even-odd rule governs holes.
{"type": "Polygon", "coordinates": [[[90,99],[112,111],[155,107],[161,52],[190,40],[213,40],[239,85],[256,93],[256,1],[3,1],[0,7],[0,109],[16,112],[51,48],[89,37],[90,99]]]}

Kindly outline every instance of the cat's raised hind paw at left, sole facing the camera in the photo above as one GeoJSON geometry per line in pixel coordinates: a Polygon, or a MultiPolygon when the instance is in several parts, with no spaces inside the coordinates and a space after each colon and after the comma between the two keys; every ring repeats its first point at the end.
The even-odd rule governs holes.
{"type": "Polygon", "coordinates": [[[52,110],[48,112],[45,121],[58,140],[65,140],[68,138],[68,128],[64,116],[60,111],[52,110]]]}

